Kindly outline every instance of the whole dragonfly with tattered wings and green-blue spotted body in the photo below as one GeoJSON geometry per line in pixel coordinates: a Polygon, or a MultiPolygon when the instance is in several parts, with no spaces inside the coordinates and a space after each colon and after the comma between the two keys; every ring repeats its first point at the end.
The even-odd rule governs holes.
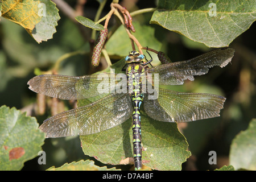
{"type": "Polygon", "coordinates": [[[125,57],[126,74],[119,81],[117,77],[120,75],[116,73],[35,76],[28,81],[29,89],[61,100],[82,100],[109,92],[88,105],[53,115],[39,129],[46,133],[46,138],[68,137],[77,132],[79,135],[90,135],[108,130],[131,118],[134,167],[139,170],[142,168],[142,102],[148,117],[157,121],[179,123],[220,116],[225,97],[175,92],[160,88],[159,85],[182,85],[185,80],[193,81],[194,76],[208,73],[209,68],[225,67],[233,55],[234,49],[222,48],[190,60],[150,68],[152,57],[147,60],[145,55],[134,50],[125,57]],[[110,83],[115,85],[112,89],[109,88],[112,85],[110,83]],[[104,84],[110,86],[103,88],[104,84]],[[118,84],[119,90],[115,89],[118,84]]]}

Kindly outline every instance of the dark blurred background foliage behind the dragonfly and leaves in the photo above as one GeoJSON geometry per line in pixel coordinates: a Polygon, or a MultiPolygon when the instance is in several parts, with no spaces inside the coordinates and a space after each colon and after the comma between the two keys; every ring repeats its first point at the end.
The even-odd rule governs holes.
{"type": "MultiPolygon", "coordinates": [[[[76,8],[76,0],[67,1],[71,7],[76,8]]],[[[126,3],[126,1],[121,1],[126,3]]],[[[102,16],[110,10],[110,1],[104,7],[102,16]]],[[[138,1],[134,9],[156,7],[155,1],[138,1]]],[[[98,8],[97,1],[87,1],[84,6],[84,15],[94,19],[98,8]]],[[[129,7],[127,7],[129,9],[129,7]]],[[[34,69],[49,70],[56,60],[65,53],[89,49],[90,28],[85,28],[86,34],[81,34],[80,27],[69,19],[63,11],[59,11],[61,19],[57,22],[57,32],[53,39],[40,44],[36,43],[24,28],[9,20],[1,18],[0,22],[0,106],[7,105],[23,111],[35,108],[36,93],[28,89],[27,81],[34,77],[34,69]]],[[[141,24],[148,25],[152,13],[135,16],[141,24]]],[[[114,19],[112,18],[112,22],[114,19]]],[[[162,42],[161,50],[168,54],[172,61],[191,59],[208,52],[211,49],[204,44],[196,43],[184,36],[150,24],[155,30],[155,38],[162,42]]],[[[136,28],[136,27],[135,27],[136,28]]],[[[174,86],[172,90],[182,92],[203,92],[221,94],[227,98],[221,117],[181,123],[180,130],[187,138],[192,156],[183,164],[183,170],[215,169],[228,165],[230,144],[234,137],[242,130],[246,130],[252,118],[256,117],[256,40],[255,23],[238,36],[229,47],[236,49],[232,64],[225,68],[212,68],[204,76],[196,77],[193,82],[185,82],[182,86],[174,86]],[[209,165],[209,151],[217,152],[217,165],[209,165]]],[[[150,39],[150,38],[149,38],[150,39]]],[[[120,39],[119,39],[120,40],[120,39]]],[[[115,40],[119,43],[118,39],[115,40]]],[[[146,45],[145,45],[146,46],[146,45]]],[[[117,50],[118,51],[118,50],[117,50]]],[[[118,56],[110,57],[112,61],[120,59],[118,56]]],[[[104,68],[102,64],[100,68],[104,68]]],[[[97,68],[99,69],[99,68],[97,68]]],[[[59,74],[81,76],[94,73],[90,66],[90,55],[75,55],[68,57],[60,64],[59,74]]],[[[65,109],[71,108],[66,101],[65,109]]],[[[43,115],[36,115],[41,124],[49,117],[51,112],[47,107],[43,115]]],[[[79,161],[81,159],[94,159],[85,156],[80,147],[80,139],[56,138],[46,139],[43,150],[47,154],[46,165],[39,165],[38,158],[24,164],[23,170],[47,169],[62,166],[64,163],[79,161]]],[[[97,165],[102,164],[96,160],[97,165]]]]}

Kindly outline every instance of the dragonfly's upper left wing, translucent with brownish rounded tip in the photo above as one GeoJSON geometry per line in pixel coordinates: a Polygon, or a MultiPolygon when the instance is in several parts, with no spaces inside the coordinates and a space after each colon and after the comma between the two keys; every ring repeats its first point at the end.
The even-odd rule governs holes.
{"type": "Polygon", "coordinates": [[[114,73],[88,76],[39,75],[31,78],[27,84],[36,93],[63,100],[80,100],[110,93],[109,84],[114,81],[114,73]]]}

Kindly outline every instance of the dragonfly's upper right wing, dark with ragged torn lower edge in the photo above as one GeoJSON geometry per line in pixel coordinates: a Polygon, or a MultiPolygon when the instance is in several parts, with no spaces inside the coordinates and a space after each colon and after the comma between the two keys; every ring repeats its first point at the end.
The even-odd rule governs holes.
{"type": "MultiPolygon", "coordinates": [[[[204,75],[214,66],[225,67],[232,59],[234,49],[217,49],[191,60],[159,65],[147,70],[158,73],[159,85],[182,85],[184,80],[194,80],[195,75],[204,75]]],[[[158,79],[158,78],[156,78],[158,79]]]]}

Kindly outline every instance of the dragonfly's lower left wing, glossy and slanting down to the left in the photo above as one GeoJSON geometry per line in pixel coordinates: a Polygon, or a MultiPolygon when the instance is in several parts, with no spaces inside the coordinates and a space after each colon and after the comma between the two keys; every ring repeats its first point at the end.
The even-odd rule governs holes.
{"type": "Polygon", "coordinates": [[[54,115],[39,129],[47,138],[89,135],[125,122],[132,111],[129,94],[110,94],[92,104],[54,115]]]}

